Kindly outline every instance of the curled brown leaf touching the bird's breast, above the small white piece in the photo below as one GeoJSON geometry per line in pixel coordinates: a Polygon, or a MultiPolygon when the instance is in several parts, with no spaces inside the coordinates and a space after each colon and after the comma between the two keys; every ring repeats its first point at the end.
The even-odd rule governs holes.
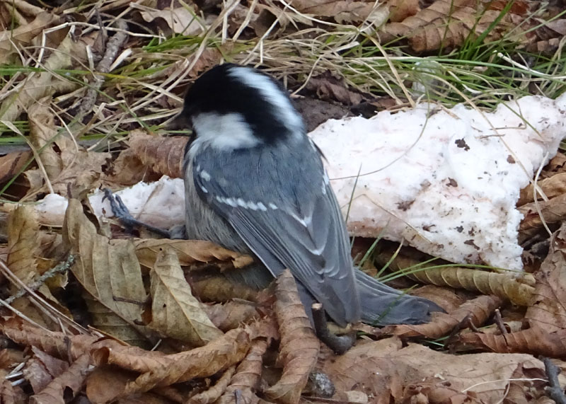
{"type": "Polygon", "coordinates": [[[187,141],[187,137],[156,137],[135,130],[130,132],[129,146],[144,166],[171,178],[182,178],[187,141]]]}

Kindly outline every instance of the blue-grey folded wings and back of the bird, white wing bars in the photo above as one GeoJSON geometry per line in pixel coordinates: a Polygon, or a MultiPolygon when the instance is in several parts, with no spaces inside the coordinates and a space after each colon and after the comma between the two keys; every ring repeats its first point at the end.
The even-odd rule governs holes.
{"type": "Polygon", "coordinates": [[[258,166],[240,154],[226,159],[224,167],[214,158],[195,158],[193,165],[200,171],[194,170],[193,178],[197,190],[207,190],[200,197],[233,226],[273,275],[288,267],[330,317],[344,325],[360,316],[350,244],[340,207],[324,183],[320,156],[308,145],[301,153],[306,155],[296,156],[294,164],[273,175],[258,175],[258,166],[265,158],[275,159],[274,166],[284,165],[275,152],[260,156],[258,166]],[[200,175],[204,170],[206,179],[200,175]],[[253,178],[252,186],[241,187],[242,176],[253,178]]]}

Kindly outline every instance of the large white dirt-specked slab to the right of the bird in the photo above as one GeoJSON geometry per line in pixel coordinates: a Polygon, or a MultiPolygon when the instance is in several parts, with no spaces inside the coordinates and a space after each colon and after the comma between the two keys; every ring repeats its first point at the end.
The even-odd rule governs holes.
{"type": "Polygon", "coordinates": [[[519,190],[565,137],[566,95],[491,113],[432,104],[329,120],[310,133],[353,235],[407,241],[452,262],[521,270],[519,190]],[[359,177],[358,173],[360,173],[359,177]]]}

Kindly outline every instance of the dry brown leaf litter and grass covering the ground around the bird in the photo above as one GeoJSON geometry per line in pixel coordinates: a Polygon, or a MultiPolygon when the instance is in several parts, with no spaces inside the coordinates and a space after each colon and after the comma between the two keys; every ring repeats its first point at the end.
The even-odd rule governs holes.
{"type": "MultiPolygon", "coordinates": [[[[531,178],[517,204],[534,278],[380,242],[364,250],[364,270],[400,270],[387,275],[395,287],[436,285],[410,292],[447,313],[423,325],[354,325],[357,343],[340,356],[314,335],[289,274],[261,292],[238,286],[229,275],[250,257],[204,241],[132,239],[108,219],[107,205],[87,197],[99,187],[163,188],[161,175],[180,177],[186,139],[156,136],[158,125],[173,118],[187,85],[223,60],[262,64],[306,100],[322,98],[321,110],[340,105],[344,115],[402,110],[427,89],[449,106],[474,96],[490,108],[502,89],[464,78],[492,63],[515,74],[505,93],[555,98],[559,74],[507,45],[490,48],[475,71],[449,59],[412,69],[403,57],[414,63],[424,59],[419,52],[439,50],[480,58],[481,46],[512,38],[520,50],[560,61],[560,9],[538,1],[166,3],[0,3],[0,124],[12,142],[29,145],[2,146],[0,157],[8,224],[1,400],[328,400],[320,391],[354,403],[543,400],[548,376],[536,357],[559,369],[566,359],[563,154],[531,178]],[[321,380],[333,388],[312,388],[321,380]]],[[[183,197],[182,185],[166,189],[183,197]]],[[[144,192],[133,199],[154,198],[166,216],[182,217],[163,209],[154,188],[144,192]]],[[[134,214],[146,219],[141,212],[134,214]]]]}

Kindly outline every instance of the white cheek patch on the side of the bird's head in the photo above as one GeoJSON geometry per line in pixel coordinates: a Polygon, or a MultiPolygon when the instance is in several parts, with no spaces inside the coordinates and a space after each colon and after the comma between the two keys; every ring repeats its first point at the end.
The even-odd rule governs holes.
{"type": "Polygon", "coordinates": [[[192,126],[197,132],[197,139],[191,146],[193,150],[200,144],[230,151],[257,146],[260,143],[260,139],[253,134],[244,117],[235,112],[224,115],[204,112],[192,118],[192,126]]]}

